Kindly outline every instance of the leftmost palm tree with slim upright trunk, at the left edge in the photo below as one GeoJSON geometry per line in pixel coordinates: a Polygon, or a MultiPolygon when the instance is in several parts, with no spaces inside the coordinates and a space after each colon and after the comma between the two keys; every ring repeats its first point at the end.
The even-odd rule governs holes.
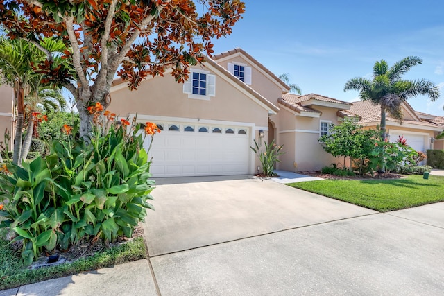
{"type": "MultiPolygon", "coordinates": [[[[60,41],[46,39],[42,44],[42,48],[50,52],[62,51],[65,46],[60,41]]],[[[0,39],[0,76],[3,82],[6,82],[15,91],[15,106],[17,110],[15,139],[14,139],[14,156],[12,162],[19,163],[22,159],[22,134],[25,117],[25,97],[32,96],[42,87],[41,73],[35,73],[31,64],[42,62],[46,55],[37,47],[28,43],[26,40],[3,37],[0,39]]],[[[46,85],[47,86],[47,85],[46,85]]]]}

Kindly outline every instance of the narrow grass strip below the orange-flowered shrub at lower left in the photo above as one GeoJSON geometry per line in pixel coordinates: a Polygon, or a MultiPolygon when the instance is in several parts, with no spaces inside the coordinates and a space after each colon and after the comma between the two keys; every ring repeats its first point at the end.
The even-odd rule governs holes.
{"type": "Polygon", "coordinates": [[[23,265],[20,254],[10,248],[5,235],[6,229],[0,229],[0,290],[146,258],[145,243],[143,238],[139,237],[87,259],[30,270],[23,265]]]}

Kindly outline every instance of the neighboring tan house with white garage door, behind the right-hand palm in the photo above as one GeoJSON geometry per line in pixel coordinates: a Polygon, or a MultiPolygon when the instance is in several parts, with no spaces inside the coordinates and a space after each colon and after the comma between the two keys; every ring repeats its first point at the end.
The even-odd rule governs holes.
{"type": "MultiPolygon", "coordinates": [[[[370,101],[353,102],[348,114],[356,114],[359,123],[368,128],[376,128],[381,121],[381,107],[370,101]]],[[[435,140],[436,135],[443,131],[443,122],[439,117],[413,110],[407,102],[402,103],[402,122],[386,115],[386,132],[391,142],[404,137],[407,144],[417,151],[426,153],[427,149],[443,149],[443,140],[435,140]]]]}

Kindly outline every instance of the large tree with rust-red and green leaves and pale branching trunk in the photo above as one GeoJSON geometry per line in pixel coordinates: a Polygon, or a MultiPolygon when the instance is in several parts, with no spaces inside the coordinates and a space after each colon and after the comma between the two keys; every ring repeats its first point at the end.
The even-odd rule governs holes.
{"type": "Polygon", "coordinates": [[[91,131],[87,107],[109,105],[116,73],[130,89],[169,68],[178,82],[187,80],[189,65],[212,54],[212,39],[230,34],[244,7],[240,0],[3,0],[0,24],[46,53],[33,67],[44,83],[73,94],[84,137],[91,131]],[[65,43],[66,63],[53,62],[44,37],[65,43]]]}

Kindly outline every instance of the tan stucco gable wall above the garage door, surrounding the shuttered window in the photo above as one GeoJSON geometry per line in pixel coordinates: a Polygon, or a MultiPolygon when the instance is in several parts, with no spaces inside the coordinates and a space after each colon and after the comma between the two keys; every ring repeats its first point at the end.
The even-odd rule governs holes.
{"type": "Polygon", "coordinates": [[[108,110],[126,116],[130,113],[190,119],[212,119],[268,125],[268,112],[228,82],[216,76],[216,96],[209,101],[188,98],[182,84],[171,76],[142,82],[137,91],[127,88],[111,92],[108,110]]]}

